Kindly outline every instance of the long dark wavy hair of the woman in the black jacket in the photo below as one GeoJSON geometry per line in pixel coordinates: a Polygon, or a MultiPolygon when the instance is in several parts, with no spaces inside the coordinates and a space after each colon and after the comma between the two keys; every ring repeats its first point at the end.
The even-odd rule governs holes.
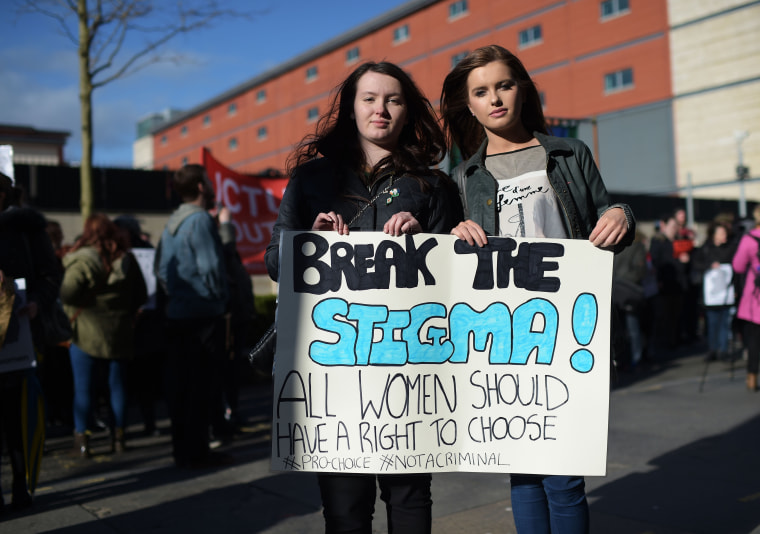
{"type": "Polygon", "coordinates": [[[296,167],[320,154],[356,172],[365,169],[367,161],[359,143],[359,131],[353,114],[356,87],[359,78],[367,72],[385,74],[398,80],[407,112],[406,124],[401,130],[398,144],[389,156],[375,165],[372,176],[388,166],[399,174],[424,174],[443,159],[446,141],[428,99],[398,66],[386,61],[367,62],[357,67],[336,88],[330,109],[319,119],[316,132],[304,137],[290,155],[287,164],[290,176],[296,167]]]}

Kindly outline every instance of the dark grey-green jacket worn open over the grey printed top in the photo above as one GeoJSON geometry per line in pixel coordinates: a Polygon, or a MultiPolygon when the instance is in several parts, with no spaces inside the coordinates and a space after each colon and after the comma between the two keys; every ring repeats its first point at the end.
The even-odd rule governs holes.
{"type": "MultiPolygon", "coordinates": [[[[624,204],[610,204],[607,189],[596,168],[589,148],[580,140],[553,137],[534,133],[546,150],[546,173],[549,183],[559,198],[563,221],[568,236],[587,239],[599,217],[613,207],[623,208],[628,219],[628,233],[615,247],[622,250],[628,246],[636,233],[636,221],[631,210],[624,204]]],[[[498,228],[498,183],[485,166],[487,141],[470,159],[454,170],[453,176],[460,183],[460,195],[465,218],[478,223],[488,235],[496,235],[498,228]]]]}

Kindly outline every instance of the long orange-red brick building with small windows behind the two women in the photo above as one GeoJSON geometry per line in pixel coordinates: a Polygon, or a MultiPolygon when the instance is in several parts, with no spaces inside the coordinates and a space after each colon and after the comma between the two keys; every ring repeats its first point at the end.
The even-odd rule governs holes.
{"type": "MultiPolygon", "coordinates": [[[[670,126],[652,143],[672,145],[666,0],[413,0],[154,130],[154,168],[198,162],[207,146],[240,172],[284,170],[293,145],[359,63],[399,64],[437,105],[452,65],[491,43],[524,62],[547,117],[588,121],[642,110],[670,126]]],[[[598,149],[586,124],[580,136],[598,149]]],[[[662,160],[672,182],[672,152],[662,160]]]]}

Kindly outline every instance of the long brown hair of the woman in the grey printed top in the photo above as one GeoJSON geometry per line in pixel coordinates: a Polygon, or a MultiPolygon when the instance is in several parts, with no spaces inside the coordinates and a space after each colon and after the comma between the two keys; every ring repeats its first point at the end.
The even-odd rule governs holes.
{"type": "Polygon", "coordinates": [[[502,61],[509,67],[512,78],[523,92],[525,102],[520,113],[523,126],[528,132],[548,133],[541,97],[525,66],[506,48],[483,46],[457,63],[446,76],[441,90],[441,115],[448,146],[459,147],[465,159],[477,152],[486,136],[483,126],[467,107],[467,78],[473,70],[494,61],[502,61]]]}

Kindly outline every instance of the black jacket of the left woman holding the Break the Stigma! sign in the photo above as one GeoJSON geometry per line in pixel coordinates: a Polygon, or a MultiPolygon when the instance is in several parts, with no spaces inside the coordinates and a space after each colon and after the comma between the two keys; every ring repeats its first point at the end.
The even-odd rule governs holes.
{"type": "Polygon", "coordinates": [[[310,230],[320,213],[334,211],[350,222],[356,213],[375,195],[393,181],[397,195],[380,195],[372,206],[350,225],[352,231],[382,231],[383,225],[396,213],[408,211],[419,221],[426,233],[449,233],[462,221],[462,207],[454,184],[445,175],[430,172],[422,177],[427,184],[423,191],[419,181],[411,176],[385,173],[367,188],[350,169],[339,167],[328,158],[320,158],[300,166],[293,173],[280,204],[272,240],[267,246],[265,260],[269,276],[278,279],[280,232],[310,230]],[[388,200],[390,199],[390,202],[388,200]]]}

